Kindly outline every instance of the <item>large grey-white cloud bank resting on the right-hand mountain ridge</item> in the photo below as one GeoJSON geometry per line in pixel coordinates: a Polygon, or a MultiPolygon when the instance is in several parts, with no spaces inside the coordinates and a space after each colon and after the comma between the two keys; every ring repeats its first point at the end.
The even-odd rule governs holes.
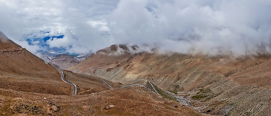
{"type": "Polygon", "coordinates": [[[270,5],[268,0],[121,0],[108,20],[118,43],[239,56],[271,53],[270,5]]]}

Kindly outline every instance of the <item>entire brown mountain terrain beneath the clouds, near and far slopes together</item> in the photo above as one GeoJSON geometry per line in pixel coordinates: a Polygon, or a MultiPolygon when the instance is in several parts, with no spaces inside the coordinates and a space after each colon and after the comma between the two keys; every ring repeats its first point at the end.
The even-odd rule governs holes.
{"type": "Polygon", "coordinates": [[[125,44],[82,61],[62,54],[47,62],[0,32],[0,114],[269,116],[270,66],[269,54],[145,52],[125,44]]]}

